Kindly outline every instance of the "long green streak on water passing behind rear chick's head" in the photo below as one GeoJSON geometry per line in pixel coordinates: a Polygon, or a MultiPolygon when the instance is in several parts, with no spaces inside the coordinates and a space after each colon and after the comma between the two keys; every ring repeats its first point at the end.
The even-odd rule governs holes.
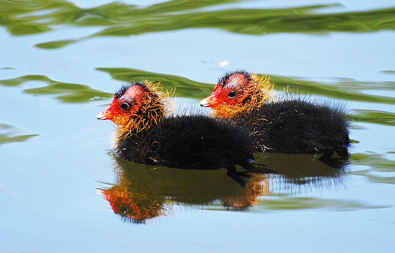
{"type": "MultiPolygon", "coordinates": [[[[181,97],[201,99],[210,95],[214,84],[201,83],[176,75],[145,72],[127,68],[98,68],[108,72],[114,79],[130,82],[133,80],[162,81],[167,89],[176,88],[181,97]],[[188,88],[188,89],[186,89],[188,88]],[[181,93],[180,92],[181,89],[181,93]],[[196,93],[198,92],[198,93],[196,93]],[[204,94],[202,94],[204,93],[204,94]],[[200,96],[202,94],[202,96],[200,96]]],[[[395,104],[395,98],[363,94],[363,90],[395,90],[395,82],[361,82],[350,79],[339,79],[336,83],[323,83],[302,80],[296,77],[270,76],[277,91],[286,90],[299,94],[320,95],[349,101],[395,104]]]]}

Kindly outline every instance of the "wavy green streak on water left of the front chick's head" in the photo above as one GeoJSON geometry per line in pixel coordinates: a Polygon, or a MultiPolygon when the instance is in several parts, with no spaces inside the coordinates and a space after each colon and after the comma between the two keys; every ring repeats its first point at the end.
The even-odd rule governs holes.
{"type": "Polygon", "coordinates": [[[48,84],[45,87],[26,89],[24,92],[33,95],[56,96],[65,103],[85,103],[92,100],[109,99],[113,94],[90,88],[87,85],[58,82],[44,75],[24,75],[13,79],[0,80],[0,85],[18,86],[28,81],[39,81],[48,84]]]}

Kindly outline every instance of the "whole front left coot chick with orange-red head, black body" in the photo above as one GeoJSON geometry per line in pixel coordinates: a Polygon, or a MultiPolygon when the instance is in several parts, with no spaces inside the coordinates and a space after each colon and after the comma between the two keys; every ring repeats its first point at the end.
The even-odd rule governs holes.
{"type": "Polygon", "coordinates": [[[118,126],[115,154],[135,163],[184,169],[251,168],[253,140],[242,126],[202,114],[166,116],[168,102],[158,85],[124,85],[110,107],[97,115],[118,126]]]}

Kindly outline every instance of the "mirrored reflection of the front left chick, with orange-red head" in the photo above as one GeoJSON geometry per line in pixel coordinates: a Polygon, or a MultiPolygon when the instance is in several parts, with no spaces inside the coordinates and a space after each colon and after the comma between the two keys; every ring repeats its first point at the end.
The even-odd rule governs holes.
{"type": "Polygon", "coordinates": [[[110,202],[125,222],[146,223],[171,215],[173,206],[243,211],[269,193],[271,175],[246,175],[244,187],[227,176],[225,169],[183,170],[153,167],[115,158],[116,185],[97,193],[110,202]]]}

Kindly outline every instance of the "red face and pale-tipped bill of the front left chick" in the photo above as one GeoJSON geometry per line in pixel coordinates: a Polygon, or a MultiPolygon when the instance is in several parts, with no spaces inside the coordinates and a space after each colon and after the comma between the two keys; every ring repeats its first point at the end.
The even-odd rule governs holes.
{"type": "Polygon", "coordinates": [[[134,116],[145,99],[144,88],[139,85],[130,86],[121,96],[114,96],[110,107],[97,115],[98,119],[110,119],[118,126],[128,123],[134,116]]]}

